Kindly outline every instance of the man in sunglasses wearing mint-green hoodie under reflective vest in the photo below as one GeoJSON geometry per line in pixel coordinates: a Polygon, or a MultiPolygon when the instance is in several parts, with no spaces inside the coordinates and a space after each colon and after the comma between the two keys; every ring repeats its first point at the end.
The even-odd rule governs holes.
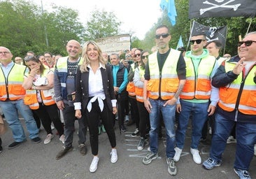
{"type": "Polygon", "coordinates": [[[178,162],[183,151],[187,124],[192,114],[192,140],[190,152],[196,164],[201,164],[199,141],[204,123],[208,115],[213,115],[218,102],[218,88],[211,85],[211,78],[218,69],[215,57],[204,49],[206,36],[199,33],[191,37],[191,51],[185,54],[187,68],[186,83],[177,102],[177,112],[180,114],[176,131],[176,154],[174,161],[178,162]],[[209,104],[209,100],[211,103],[209,104]]]}

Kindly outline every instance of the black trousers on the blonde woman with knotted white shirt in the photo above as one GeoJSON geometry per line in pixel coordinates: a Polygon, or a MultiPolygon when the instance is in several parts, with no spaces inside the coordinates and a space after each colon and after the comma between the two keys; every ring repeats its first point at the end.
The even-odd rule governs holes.
{"type": "Polygon", "coordinates": [[[90,132],[90,144],[92,148],[92,155],[98,155],[99,151],[99,119],[102,120],[102,124],[108,134],[108,140],[111,143],[111,147],[115,148],[115,131],[112,121],[112,111],[108,109],[106,100],[104,100],[104,109],[101,111],[99,108],[98,100],[92,103],[92,110],[89,112],[86,108],[86,120],[88,122],[90,132]]]}

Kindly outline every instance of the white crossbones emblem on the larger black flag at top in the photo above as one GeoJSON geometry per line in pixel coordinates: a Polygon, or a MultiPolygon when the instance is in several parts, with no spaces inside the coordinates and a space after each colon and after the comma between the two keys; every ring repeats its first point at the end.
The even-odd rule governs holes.
{"type": "MultiPolygon", "coordinates": [[[[215,1],[218,2],[218,3],[222,3],[225,0],[215,0],[215,1]]],[[[225,3],[222,3],[222,4],[217,4],[217,3],[211,3],[209,1],[204,1],[203,3],[209,4],[209,5],[212,5],[212,6],[208,7],[208,8],[201,8],[200,9],[200,15],[202,15],[206,11],[212,10],[214,8],[232,8],[235,11],[239,8],[239,6],[241,6],[241,3],[236,3],[236,4],[231,5],[230,3],[234,2],[234,1],[236,1],[236,0],[229,0],[229,1],[227,1],[225,3]]]]}

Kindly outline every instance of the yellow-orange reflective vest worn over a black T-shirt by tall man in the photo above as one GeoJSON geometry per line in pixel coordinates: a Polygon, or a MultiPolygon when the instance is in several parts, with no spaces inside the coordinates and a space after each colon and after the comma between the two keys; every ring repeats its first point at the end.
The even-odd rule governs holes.
{"type": "Polygon", "coordinates": [[[150,99],[172,99],[178,90],[177,63],[180,57],[180,51],[171,49],[160,75],[157,62],[157,52],[148,57],[148,66],[150,70],[150,80],[147,84],[148,97],[150,99]]]}

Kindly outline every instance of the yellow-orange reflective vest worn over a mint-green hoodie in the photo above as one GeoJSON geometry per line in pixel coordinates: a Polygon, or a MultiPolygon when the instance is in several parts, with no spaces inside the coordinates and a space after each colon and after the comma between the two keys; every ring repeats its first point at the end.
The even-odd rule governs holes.
{"type": "Polygon", "coordinates": [[[211,73],[215,66],[216,59],[208,55],[202,58],[197,68],[197,74],[194,71],[194,65],[191,58],[184,57],[186,63],[186,83],[183,92],[180,93],[180,99],[210,99],[211,97],[211,73]]]}

